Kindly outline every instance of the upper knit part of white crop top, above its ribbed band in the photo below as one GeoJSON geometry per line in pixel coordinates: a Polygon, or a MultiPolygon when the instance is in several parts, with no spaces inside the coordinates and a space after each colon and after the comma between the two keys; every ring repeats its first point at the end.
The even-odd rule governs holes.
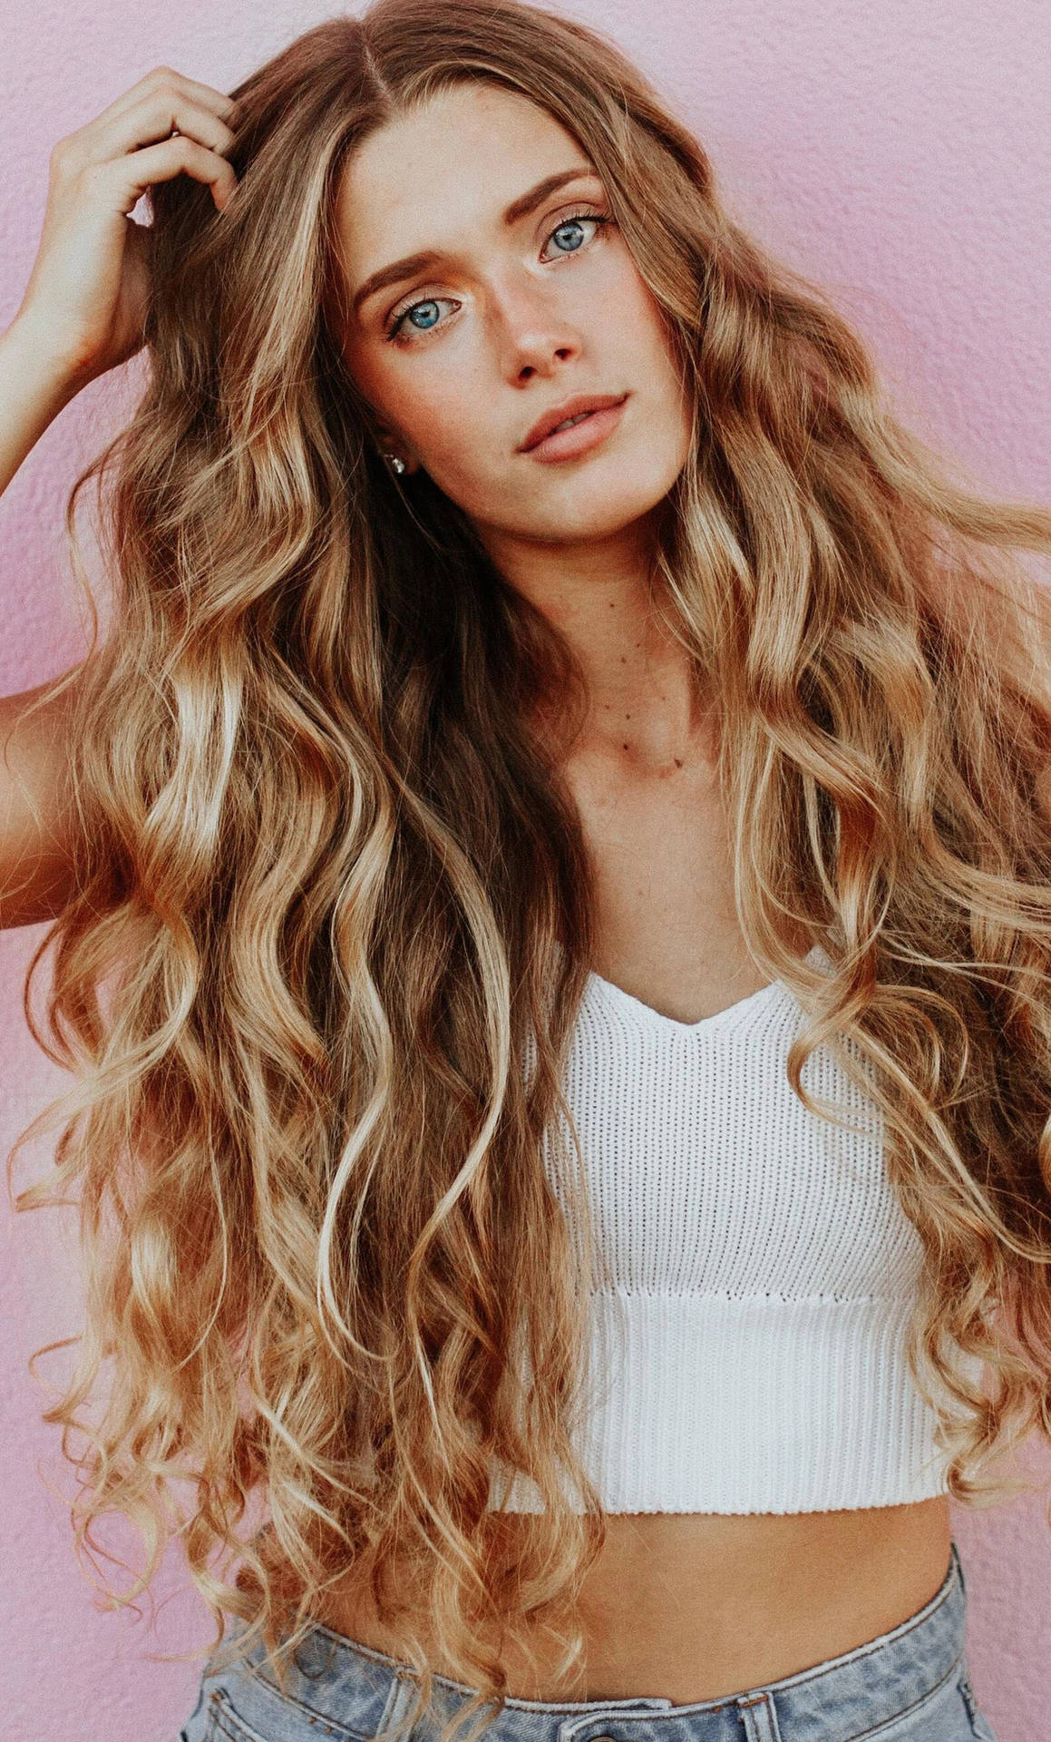
{"type": "MultiPolygon", "coordinates": [[[[887,1181],[877,1110],[825,1045],[802,1085],[844,1124],[788,1084],[802,1021],[780,984],[693,1026],[588,984],[566,1097],[607,1282],[785,1300],[912,1287],[919,1239],[887,1181]]],[[[557,1171],[552,1185],[559,1195],[557,1171]]]]}

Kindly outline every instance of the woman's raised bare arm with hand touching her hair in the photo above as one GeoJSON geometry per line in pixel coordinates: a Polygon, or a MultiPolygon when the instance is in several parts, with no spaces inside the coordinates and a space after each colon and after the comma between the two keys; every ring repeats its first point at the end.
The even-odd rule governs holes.
{"type": "MultiPolygon", "coordinates": [[[[0,334],[0,493],[63,406],[139,350],[150,226],[131,213],[177,174],[223,209],[233,113],[221,91],[158,66],[56,145],[37,260],[0,334]]],[[[75,892],[66,676],[0,697],[0,927],[54,918],[75,892]]]]}

